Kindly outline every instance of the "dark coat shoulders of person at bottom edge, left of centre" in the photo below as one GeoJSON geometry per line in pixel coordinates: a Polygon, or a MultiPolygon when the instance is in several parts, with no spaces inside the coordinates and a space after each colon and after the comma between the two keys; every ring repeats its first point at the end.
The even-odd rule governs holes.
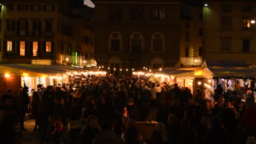
{"type": "Polygon", "coordinates": [[[102,131],[94,137],[92,144],[121,144],[121,138],[114,131],[102,131]]]}

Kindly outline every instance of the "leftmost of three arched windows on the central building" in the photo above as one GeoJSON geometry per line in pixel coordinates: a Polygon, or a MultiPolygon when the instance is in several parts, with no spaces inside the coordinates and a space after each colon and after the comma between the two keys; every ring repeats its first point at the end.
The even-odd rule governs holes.
{"type": "Polygon", "coordinates": [[[122,50],[122,35],[120,32],[112,32],[109,35],[109,51],[122,50]]]}

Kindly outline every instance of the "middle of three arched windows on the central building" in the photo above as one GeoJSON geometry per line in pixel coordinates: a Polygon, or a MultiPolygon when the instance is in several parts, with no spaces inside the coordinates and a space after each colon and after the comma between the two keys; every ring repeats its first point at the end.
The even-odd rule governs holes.
{"type": "Polygon", "coordinates": [[[141,53],[144,51],[144,37],[139,32],[133,32],[130,36],[131,52],[141,53]]]}

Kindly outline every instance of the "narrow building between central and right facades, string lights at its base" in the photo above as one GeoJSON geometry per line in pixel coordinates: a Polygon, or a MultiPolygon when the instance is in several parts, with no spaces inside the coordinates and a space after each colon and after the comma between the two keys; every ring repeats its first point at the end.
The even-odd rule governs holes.
{"type": "Polygon", "coordinates": [[[201,3],[181,4],[180,65],[202,64],[203,8],[201,3]]]}

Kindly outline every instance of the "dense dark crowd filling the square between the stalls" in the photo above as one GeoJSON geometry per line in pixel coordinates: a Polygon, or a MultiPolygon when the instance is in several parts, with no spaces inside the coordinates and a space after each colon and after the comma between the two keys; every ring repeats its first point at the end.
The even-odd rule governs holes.
{"type": "Polygon", "coordinates": [[[178,84],[135,76],[91,76],[37,89],[25,85],[1,96],[0,139],[22,141],[27,113],[41,144],[245,144],[256,136],[256,103],[252,91],[215,89],[213,99],[178,84]],[[214,101],[215,100],[215,101],[214,101]],[[244,102],[245,101],[245,102],[244,102]],[[136,122],[157,121],[144,139],[136,122]],[[70,128],[70,131],[68,129],[70,128]]]}

